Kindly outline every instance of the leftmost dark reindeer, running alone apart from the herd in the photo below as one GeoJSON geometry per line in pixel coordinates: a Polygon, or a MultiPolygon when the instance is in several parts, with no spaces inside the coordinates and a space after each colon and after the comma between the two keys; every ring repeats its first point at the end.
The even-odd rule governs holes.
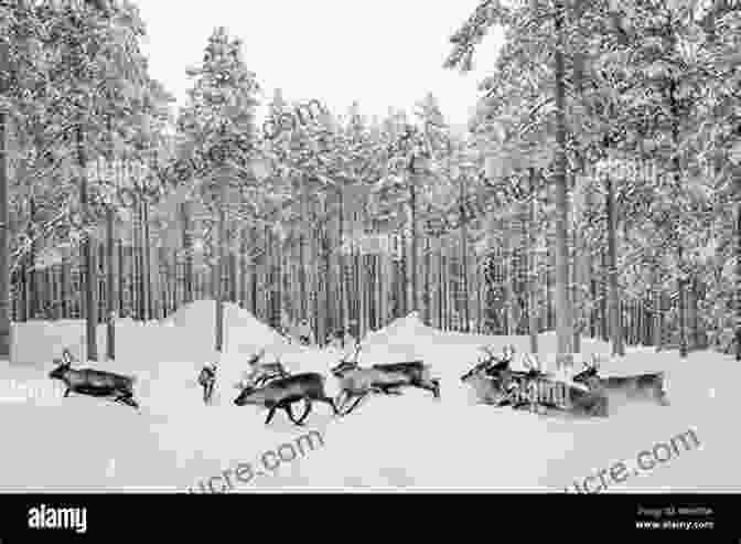
{"type": "Polygon", "coordinates": [[[54,360],[56,369],[49,373],[52,380],[61,380],[66,385],[64,397],[69,396],[71,392],[98,396],[114,397],[114,402],[124,403],[133,408],[139,408],[139,404],[133,399],[135,376],[124,376],[112,372],[98,371],[94,369],[72,369],[73,358],[66,348],[62,352],[62,360],[54,360]]]}

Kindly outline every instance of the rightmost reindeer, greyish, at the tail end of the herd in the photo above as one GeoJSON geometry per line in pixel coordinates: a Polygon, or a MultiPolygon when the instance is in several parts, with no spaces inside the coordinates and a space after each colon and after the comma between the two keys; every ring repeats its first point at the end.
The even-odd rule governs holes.
{"type": "Polygon", "coordinates": [[[599,358],[592,354],[592,362],[582,363],[584,370],[573,376],[576,383],[583,383],[590,390],[604,391],[606,394],[619,393],[632,401],[648,401],[668,406],[666,395],[666,374],[664,372],[648,372],[632,376],[599,375],[599,358]]]}

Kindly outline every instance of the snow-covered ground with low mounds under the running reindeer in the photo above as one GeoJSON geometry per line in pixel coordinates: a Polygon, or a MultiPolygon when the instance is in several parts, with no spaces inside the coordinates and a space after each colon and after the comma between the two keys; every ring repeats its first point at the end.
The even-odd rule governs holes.
{"type": "MultiPolygon", "coordinates": [[[[62,398],[51,381],[51,360],[63,346],[80,351],[82,322],[15,326],[14,363],[0,362],[0,491],[173,491],[185,492],[239,463],[258,467],[266,451],[296,444],[316,430],[323,446],[282,462],[275,473],[237,482],[236,492],[270,489],[378,489],[563,492],[574,480],[694,429],[700,446],[681,450],[651,471],[614,483],[609,492],[741,491],[734,462],[739,439],[734,417],[741,405],[735,384],[741,367],[732,358],[652,348],[629,350],[604,365],[605,374],[663,369],[668,373],[668,407],[615,406],[606,419],[567,420],[509,408],[476,405],[460,376],[488,343],[527,350],[526,337],[443,333],[415,316],[397,320],[364,342],[361,363],[421,358],[441,378],[440,401],[425,391],[374,396],[344,418],[316,405],[304,428],[284,413],[264,425],[265,412],[233,404],[249,353],[266,348],[292,371],[327,375],[341,352],[287,344],[247,311],[229,306],[226,345],[212,406],[204,406],[195,378],[213,349],[213,301],[181,309],[164,323],[117,323],[116,362],[90,363],[135,374],[141,410],[96,398],[62,398]]],[[[99,331],[105,353],[105,327],[99,331]]],[[[541,358],[552,360],[555,335],[540,337],[541,358]]],[[[583,355],[608,345],[583,342],[583,355]]],[[[259,470],[259,469],[256,469],[259,470]]],[[[216,491],[221,486],[216,486],[216,491]]],[[[200,491],[200,489],[195,490],[200,491]]]]}

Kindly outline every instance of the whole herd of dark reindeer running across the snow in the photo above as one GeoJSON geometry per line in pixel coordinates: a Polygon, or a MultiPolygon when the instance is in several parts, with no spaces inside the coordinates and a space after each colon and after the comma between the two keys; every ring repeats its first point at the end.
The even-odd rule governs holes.
{"type": "MultiPolygon", "coordinates": [[[[473,388],[482,404],[525,408],[541,414],[591,417],[606,417],[609,399],[615,395],[630,401],[668,404],[663,372],[602,377],[599,374],[599,360],[594,356],[591,364],[584,363],[583,371],[566,380],[544,372],[527,354],[523,358],[527,370],[513,370],[513,345],[505,346],[502,355],[486,346],[481,350],[484,358],[461,376],[461,382],[473,388]]],[[[331,369],[340,390],[336,398],[332,398],[326,394],[324,375],[316,372],[291,374],[279,359],[272,363],[266,362],[265,350],[260,350],[247,361],[246,377],[235,384],[239,394],[234,404],[268,409],[266,425],[278,409],[282,409],[294,425],[300,426],[313,409],[314,402],[330,405],[335,416],[346,416],[370,394],[400,395],[405,387],[426,390],[434,398],[440,398],[440,380],[432,377],[429,365],[422,360],[361,366],[359,352],[361,345],[357,344],[351,358],[342,358],[331,369]],[[293,405],[299,402],[304,403],[304,410],[297,418],[293,405]]],[[[49,377],[64,382],[65,397],[73,392],[108,397],[139,408],[133,398],[135,377],[93,369],[72,369],[73,358],[66,349],[62,360],[54,362],[56,367],[49,377]]],[[[211,404],[216,376],[215,363],[205,365],[198,374],[197,383],[203,388],[203,402],[206,405],[211,404]]]]}

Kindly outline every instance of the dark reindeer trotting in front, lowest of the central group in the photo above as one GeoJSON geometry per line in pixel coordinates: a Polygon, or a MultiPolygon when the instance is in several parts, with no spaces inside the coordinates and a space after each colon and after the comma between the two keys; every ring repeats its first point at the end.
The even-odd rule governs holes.
{"type": "Polygon", "coordinates": [[[339,414],[334,401],[324,392],[324,376],[315,372],[279,377],[262,387],[247,386],[234,399],[234,404],[237,406],[256,405],[268,408],[268,417],[265,420],[266,425],[272,420],[278,408],[284,409],[289,419],[296,425],[303,425],[303,422],[312,409],[312,401],[326,403],[332,406],[335,415],[339,414]],[[304,401],[307,408],[303,415],[297,420],[293,417],[291,405],[299,401],[304,401]]]}

